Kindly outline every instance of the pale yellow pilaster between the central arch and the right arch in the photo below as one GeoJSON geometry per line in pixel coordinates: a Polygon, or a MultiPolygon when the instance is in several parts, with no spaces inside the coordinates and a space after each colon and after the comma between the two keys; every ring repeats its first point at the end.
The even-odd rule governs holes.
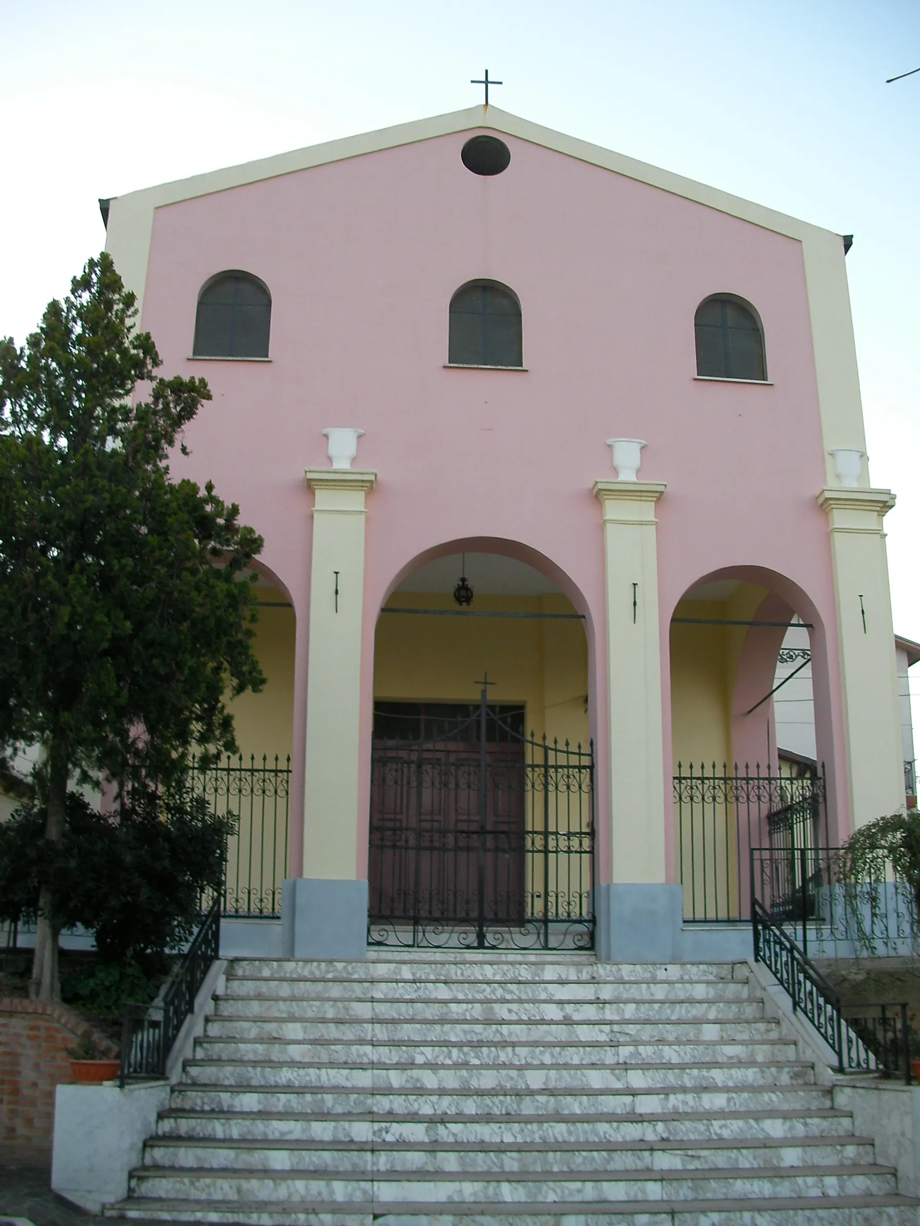
{"type": "Polygon", "coordinates": [[[655,503],[662,482],[599,481],[607,592],[612,880],[665,874],[655,503]]]}

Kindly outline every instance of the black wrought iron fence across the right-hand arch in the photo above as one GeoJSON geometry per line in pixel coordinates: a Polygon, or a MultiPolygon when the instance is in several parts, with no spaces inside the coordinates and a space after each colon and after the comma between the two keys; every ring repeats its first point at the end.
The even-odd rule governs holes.
{"type": "Polygon", "coordinates": [[[688,922],[751,917],[752,847],[827,846],[824,774],[801,777],[677,764],[673,804],[677,857],[688,922]]]}

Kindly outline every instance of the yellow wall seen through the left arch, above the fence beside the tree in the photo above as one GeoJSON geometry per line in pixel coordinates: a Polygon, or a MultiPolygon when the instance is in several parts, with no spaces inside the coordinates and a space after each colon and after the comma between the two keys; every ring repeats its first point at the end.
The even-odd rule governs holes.
{"type": "MultiPolygon", "coordinates": [[[[272,587],[259,588],[260,601],[286,601],[272,587]]],[[[266,754],[272,763],[278,755],[283,765],[291,753],[291,727],[294,710],[294,611],[264,608],[259,611],[253,647],[265,674],[265,687],[259,694],[240,694],[229,704],[237,729],[237,743],[245,761],[255,754],[261,761],[266,754]]]]}

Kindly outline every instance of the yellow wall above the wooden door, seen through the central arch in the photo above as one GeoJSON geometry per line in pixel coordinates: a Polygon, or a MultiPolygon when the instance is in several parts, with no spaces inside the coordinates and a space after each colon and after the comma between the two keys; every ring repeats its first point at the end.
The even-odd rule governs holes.
{"type": "MultiPolygon", "coordinates": [[[[455,609],[453,597],[396,592],[395,608],[455,609]]],[[[562,593],[477,596],[477,612],[574,613],[562,593]]],[[[381,613],[374,645],[374,699],[469,702],[488,672],[489,701],[521,702],[527,732],[588,743],[588,642],[577,620],[423,617],[381,613]]]]}

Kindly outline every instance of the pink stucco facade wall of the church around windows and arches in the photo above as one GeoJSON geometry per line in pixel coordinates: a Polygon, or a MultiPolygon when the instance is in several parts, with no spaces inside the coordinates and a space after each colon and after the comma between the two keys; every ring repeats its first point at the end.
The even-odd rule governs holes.
{"type": "Polygon", "coordinates": [[[328,463],[323,427],[357,425],[357,466],[379,474],[367,524],[367,761],[381,601],[418,555],[493,538],[559,568],[588,614],[604,813],[604,564],[591,484],[613,476],[604,440],[623,435],[648,440],[640,476],[667,482],[657,506],[665,744],[673,606],[702,576],[757,566],[785,576],[780,595],[803,593],[821,623],[839,770],[830,554],[815,500],[824,465],[799,244],[520,140],[508,139],[504,174],[480,178],[460,162],[467,136],[156,213],[142,326],[166,373],[202,374],[213,391],[188,429],[191,456],[177,456],[174,471],[212,478],[239,501],[294,603],[296,761],[310,554],[303,470],[328,463]],[[271,363],[188,360],[199,289],[223,268],[269,286],[271,363]],[[527,373],[444,369],[448,303],[476,277],[518,293],[527,373]],[[694,380],[694,310],[719,291],[756,305],[772,386],[694,380]]]}

